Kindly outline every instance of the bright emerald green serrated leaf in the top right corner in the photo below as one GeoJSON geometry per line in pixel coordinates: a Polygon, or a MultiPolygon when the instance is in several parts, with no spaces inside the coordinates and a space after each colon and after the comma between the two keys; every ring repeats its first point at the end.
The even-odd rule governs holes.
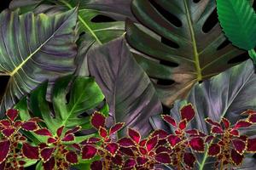
{"type": "Polygon", "coordinates": [[[246,50],[256,46],[256,14],[249,1],[217,0],[217,12],[230,42],[246,50]]]}

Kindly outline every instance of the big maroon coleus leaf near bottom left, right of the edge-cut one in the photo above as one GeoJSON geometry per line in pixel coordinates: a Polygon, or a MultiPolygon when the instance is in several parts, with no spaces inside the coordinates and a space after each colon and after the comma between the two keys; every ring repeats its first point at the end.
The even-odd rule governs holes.
{"type": "Polygon", "coordinates": [[[26,156],[29,159],[39,158],[39,149],[37,146],[32,146],[31,144],[23,143],[21,150],[23,156],[26,156]]]}

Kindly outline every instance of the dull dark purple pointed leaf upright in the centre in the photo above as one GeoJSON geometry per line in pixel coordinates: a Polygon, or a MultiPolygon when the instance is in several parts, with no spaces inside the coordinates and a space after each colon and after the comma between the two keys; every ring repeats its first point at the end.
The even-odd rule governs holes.
{"type": "MultiPolygon", "coordinates": [[[[88,54],[90,74],[102,88],[114,122],[139,130],[143,136],[152,127],[149,116],[162,111],[154,86],[132,58],[123,39],[108,42],[88,54]]],[[[122,131],[124,135],[126,130],[122,131]]]]}

